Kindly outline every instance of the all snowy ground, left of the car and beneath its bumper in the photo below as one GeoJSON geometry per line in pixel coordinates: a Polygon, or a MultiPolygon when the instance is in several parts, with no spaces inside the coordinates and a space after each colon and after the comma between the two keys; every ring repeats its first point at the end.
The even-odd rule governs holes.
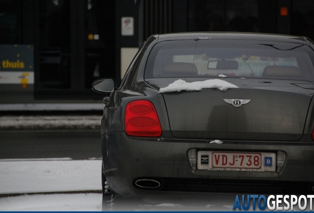
{"type": "MultiPolygon", "coordinates": [[[[100,159],[0,160],[0,211],[101,211],[100,192],[100,159]]],[[[173,203],[134,206],[116,198],[108,203],[108,210],[232,211],[233,201],[234,196],[224,196],[205,201],[179,199],[173,203]]]]}

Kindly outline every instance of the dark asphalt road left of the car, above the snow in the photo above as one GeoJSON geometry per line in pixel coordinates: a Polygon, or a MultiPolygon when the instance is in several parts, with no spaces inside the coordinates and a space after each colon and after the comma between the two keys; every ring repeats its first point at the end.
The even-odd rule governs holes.
{"type": "Polygon", "coordinates": [[[101,158],[100,130],[0,130],[0,159],[101,158]]]}

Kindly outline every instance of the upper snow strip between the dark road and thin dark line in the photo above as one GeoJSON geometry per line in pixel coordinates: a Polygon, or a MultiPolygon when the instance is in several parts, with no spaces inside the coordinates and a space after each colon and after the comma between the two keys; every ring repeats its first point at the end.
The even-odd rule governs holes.
{"type": "Polygon", "coordinates": [[[101,190],[101,160],[0,161],[0,194],[101,190]]]}

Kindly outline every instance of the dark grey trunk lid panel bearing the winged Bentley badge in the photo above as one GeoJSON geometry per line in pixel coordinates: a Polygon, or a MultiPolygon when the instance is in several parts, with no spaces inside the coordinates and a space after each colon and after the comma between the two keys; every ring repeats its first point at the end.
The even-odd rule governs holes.
{"type": "Polygon", "coordinates": [[[312,95],[288,92],[291,84],[284,85],[165,92],[171,132],[190,139],[298,141],[312,95]]]}

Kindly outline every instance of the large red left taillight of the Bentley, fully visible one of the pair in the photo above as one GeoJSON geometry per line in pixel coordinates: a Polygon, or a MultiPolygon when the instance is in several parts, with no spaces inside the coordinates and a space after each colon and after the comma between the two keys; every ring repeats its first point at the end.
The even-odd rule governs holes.
{"type": "Polygon", "coordinates": [[[161,126],[157,111],[148,100],[132,101],[125,108],[125,133],[135,137],[159,137],[161,126]]]}

